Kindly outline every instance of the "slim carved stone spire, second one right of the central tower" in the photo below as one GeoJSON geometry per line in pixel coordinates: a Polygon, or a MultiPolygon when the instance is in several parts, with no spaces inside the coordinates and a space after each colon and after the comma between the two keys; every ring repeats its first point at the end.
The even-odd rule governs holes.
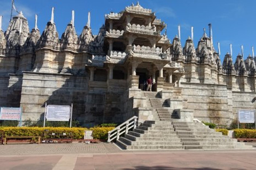
{"type": "Polygon", "coordinates": [[[186,62],[194,62],[196,58],[196,49],[193,40],[188,37],[185,47],[183,48],[183,54],[185,55],[186,62]]]}

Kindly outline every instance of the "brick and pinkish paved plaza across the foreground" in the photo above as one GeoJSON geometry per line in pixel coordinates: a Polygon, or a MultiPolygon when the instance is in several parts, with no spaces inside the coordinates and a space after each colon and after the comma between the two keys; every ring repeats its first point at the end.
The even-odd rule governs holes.
{"type": "MultiPolygon", "coordinates": [[[[254,145],[254,143],[247,143],[254,145]]],[[[254,145],[255,146],[255,145],[254,145]]],[[[113,143],[0,145],[2,169],[256,169],[256,149],[120,150],[113,143]]]]}

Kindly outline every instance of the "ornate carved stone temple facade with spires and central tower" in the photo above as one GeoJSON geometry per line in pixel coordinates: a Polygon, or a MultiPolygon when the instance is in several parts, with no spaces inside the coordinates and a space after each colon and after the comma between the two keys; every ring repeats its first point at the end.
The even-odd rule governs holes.
{"type": "Polygon", "coordinates": [[[179,109],[229,125],[239,109],[255,108],[254,56],[233,61],[227,53],[221,64],[211,33],[182,47],[180,36],[171,42],[161,33],[165,27],[139,3],[106,14],[97,36],[90,20],[78,36],[74,17],[61,37],[53,16],[42,34],[36,24],[30,31],[20,12],[5,32],[0,27],[0,106],[22,107],[23,121],[43,120],[47,103],[73,104],[73,118],[85,126],[134,115],[143,122],[157,112],[142,88],[151,77],[170,116],[179,109]]]}

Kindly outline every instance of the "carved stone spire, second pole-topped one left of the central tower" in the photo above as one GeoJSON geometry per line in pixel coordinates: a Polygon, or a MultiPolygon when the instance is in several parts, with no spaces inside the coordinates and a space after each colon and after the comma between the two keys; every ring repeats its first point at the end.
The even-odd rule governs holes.
{"type": "Polygon", "coordinates": [[[78,37],[76,35],[75,27],[71,23],[69,23],[67,25],[65,32],[61,36],[60,47],[62,49],[65,49],[65,48],[76,49],[77,48],[77,40],[78,40],[78,37]]]}

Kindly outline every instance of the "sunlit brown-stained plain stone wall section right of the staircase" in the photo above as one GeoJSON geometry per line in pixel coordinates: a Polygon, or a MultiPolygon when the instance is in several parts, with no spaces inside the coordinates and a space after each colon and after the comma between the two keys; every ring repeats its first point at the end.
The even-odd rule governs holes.
{"type": "Polygon", "coordinates": [[[201,83],[182,83],[183,108],[194,109],[194,117],[205,122],[228,125],[230,111],[227,86],[201,83]]]}

